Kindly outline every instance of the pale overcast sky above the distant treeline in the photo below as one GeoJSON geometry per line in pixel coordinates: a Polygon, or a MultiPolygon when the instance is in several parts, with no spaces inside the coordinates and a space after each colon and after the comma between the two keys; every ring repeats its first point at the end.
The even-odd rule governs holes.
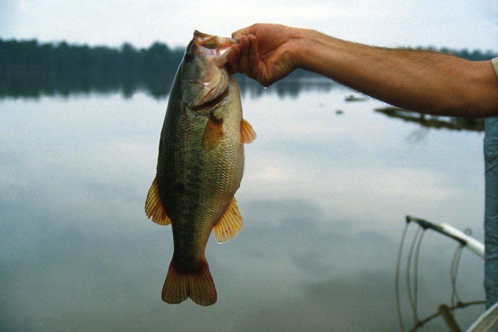
{"type": "Polygon", "coordinates": [[[255,22],[314,28],[379,46],[498,50],[496,0],[1,0],[0,38],[186,45],[255,22]]]}

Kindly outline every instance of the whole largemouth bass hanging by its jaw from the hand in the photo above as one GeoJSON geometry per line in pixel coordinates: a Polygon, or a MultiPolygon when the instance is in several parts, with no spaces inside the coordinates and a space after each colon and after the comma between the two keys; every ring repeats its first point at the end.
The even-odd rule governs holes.
{"type": "Polygon", "coordinates": [[[171,224],[173,258],[162,300],[217,301],[204,255],[211,231],[226,242],[243,228],[234,194],[244,172],[244,143],[256,138],[242,118],[239,87],[225,67],[231,38],[199,31],[188,44],[169,95],[156,177],[145,213],[171,224]]]}

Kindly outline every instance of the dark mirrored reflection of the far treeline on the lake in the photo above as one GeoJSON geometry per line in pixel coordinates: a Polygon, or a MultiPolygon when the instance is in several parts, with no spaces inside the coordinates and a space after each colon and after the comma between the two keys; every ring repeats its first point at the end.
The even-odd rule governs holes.
{"type": "MultiPolygon", "coordinates": [[[[263,87],[246,76],[235,75],[241,94],[251,98],[260,97],[263,87]]],[[[154,73],[124,72],[96,73],[80,71],[76,73],[52,73],[51,75],[4,75],[0,77],[0,99],[2,98],[39,98],[41,96],[65,96],[76,94],[115,94],[120,92],[130,98],[145,91],[155,99],[166,98],[174,79],[174,71],[158,70],[154,73]]],[[[303,77],[301,71],[275,83],[267,93],[279,97],[297,97],[301,92],[310,90],[329,92],[338,85],[329,79],[313,75],[303,77]]]]}

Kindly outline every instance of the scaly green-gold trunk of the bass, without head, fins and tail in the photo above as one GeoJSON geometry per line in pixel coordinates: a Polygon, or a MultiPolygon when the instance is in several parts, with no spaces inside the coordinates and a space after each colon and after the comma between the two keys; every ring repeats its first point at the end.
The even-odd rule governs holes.
{"type": "MultiPolygon", "coordinates": [[[[236,83],[229,89],[237,89],[236,83]]],[[[175,90],[178,94],[179,89],[173,86],[172,91],[175,90]]],[[[238,91],[235,95],[239,96],[238,91]]],[[[218,111],[226,113],[224,139],[217,147],[206,151],[200,147],[208,118],[185,107],[181,99],[172,100],[174,103],[168,106],[165,130],[161,133],[157,183],[164,210],[175,221],[172,222],[175,258],[188,265],[201,257],[187,258],[190,255],[186,253],[203,253],[199,248],[206,245],[214,224],[220,220],[240,186],[244,146],[240,143],[240,131],[232,127],[240,127],[242,113],[225,110],[237,101],[227,100],[227,104],[220,107],[222,110],[218,111]]]]}

